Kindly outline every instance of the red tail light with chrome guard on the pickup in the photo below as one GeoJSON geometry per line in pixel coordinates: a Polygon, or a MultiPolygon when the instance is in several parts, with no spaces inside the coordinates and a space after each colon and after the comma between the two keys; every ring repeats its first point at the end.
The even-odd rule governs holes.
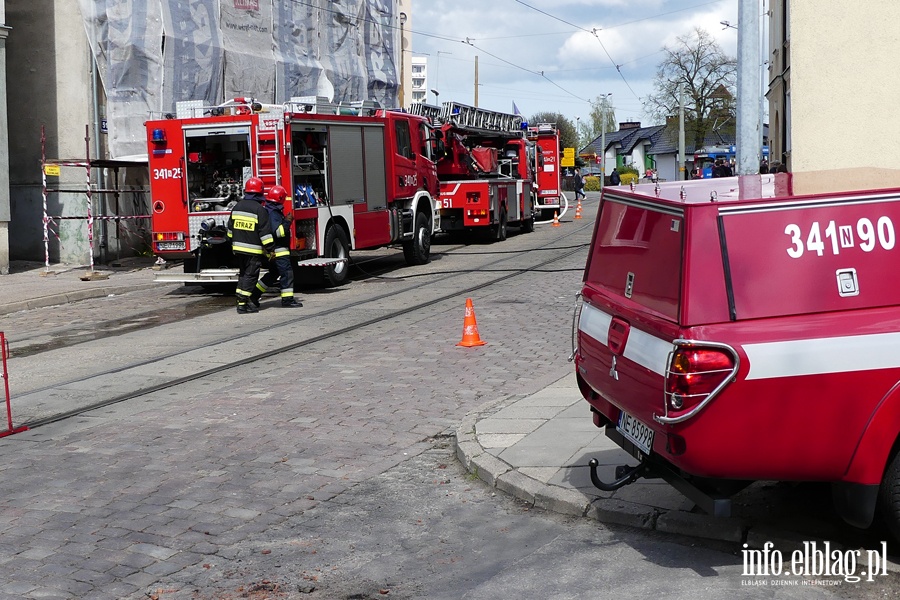
{"type": "Polygon", "coordinates": [[[676,340],[666,369],[665,414],[659,423],[680,423],[697,414],[737,373],[739,361],[724,344],[676,340]]]}

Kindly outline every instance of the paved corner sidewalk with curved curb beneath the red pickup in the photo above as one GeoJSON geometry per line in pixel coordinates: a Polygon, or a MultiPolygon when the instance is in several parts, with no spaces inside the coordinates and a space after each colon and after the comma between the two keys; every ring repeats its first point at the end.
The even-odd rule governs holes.
{"type": "Polygon", "coordinates": [[[460,462],[488,485],[565,515],[753,548],[773,542],[785,551],[802,549],[803,541],[840,545],[835,539],[859,548],[887,535],[845,525],[831,509],[827,484],[757,482],[733,497],[728,518],[695,509],[662,479],[600,491],[590,480],[591,458],[599,461],[599,476],[607,482],[615,479],[616,466],[637,463],[594,426],[574,367],[536,394],[495,401],[469,414],[456,443],[460,462]]]}

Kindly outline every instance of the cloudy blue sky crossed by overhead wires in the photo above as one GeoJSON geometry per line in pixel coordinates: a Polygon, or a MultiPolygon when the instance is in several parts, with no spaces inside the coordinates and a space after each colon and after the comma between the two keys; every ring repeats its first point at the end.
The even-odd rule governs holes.
{"type": "Polygon", "coordinates": [[[612,93],[617,121],[657,125],[641,98],[664,47],[700,27],[737,56],[738,0],[412,0],[410,13],[412,54],[427,58],[440,102],[474,104],[477,56],[478,106],[515,102],[526,118],[588,122],[591,102],[612,93]]]}

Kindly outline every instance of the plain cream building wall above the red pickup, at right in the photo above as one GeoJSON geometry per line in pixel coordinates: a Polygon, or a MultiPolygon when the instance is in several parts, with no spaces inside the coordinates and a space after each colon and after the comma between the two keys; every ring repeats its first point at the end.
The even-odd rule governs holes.
{"type": "Polygon", "coordinates": [[[770,160],[798,193],[900,186],[900,3],[771,0],[769,15],[770,160]]]}

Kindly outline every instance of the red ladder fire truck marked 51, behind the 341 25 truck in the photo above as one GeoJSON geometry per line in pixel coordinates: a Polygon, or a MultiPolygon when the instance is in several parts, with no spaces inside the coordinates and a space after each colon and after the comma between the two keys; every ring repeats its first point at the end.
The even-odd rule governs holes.
{"type": "Polygon", "coordinates": [[[509,224],[534,230],[535,145],[521,116],[457,102],[411,110],[439,128],[445,146],[436,157],[442,231],[488,231],[501,241],[509,224]]]}

